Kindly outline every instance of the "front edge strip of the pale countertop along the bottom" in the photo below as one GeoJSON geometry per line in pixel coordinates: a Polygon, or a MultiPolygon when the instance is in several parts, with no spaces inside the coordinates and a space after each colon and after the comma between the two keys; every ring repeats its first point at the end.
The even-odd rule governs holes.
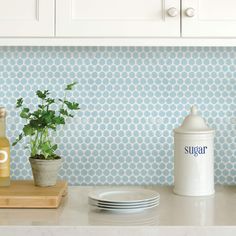
{"type": "Polygon", "coordinates": [[[235,236],[235,226],[0,226],[4,236],[235,236]]]}

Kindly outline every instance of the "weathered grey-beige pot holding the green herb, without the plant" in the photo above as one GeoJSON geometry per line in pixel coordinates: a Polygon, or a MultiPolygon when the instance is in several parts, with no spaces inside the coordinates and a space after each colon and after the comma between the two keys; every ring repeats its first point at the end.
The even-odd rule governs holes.
{"type": "Polygon", "coordinates": [[[34,184],[40,187],[54,186],[57,183],[57,174],[62,159],[40,160],[29,158],[34,177],[34,184]]]}

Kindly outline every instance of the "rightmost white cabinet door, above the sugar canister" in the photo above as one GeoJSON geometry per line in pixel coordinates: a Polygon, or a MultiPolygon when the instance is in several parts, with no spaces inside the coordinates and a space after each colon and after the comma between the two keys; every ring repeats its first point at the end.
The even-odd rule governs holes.
{"type": "Polygon", "coordinates": [[[182,0],[182,36],[236,37],[236,1],[182,0]]]}

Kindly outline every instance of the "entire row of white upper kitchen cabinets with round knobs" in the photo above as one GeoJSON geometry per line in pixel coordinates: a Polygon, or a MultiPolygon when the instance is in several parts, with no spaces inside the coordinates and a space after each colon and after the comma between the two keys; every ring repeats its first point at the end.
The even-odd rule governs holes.
{"type": "Polygon", "coordinates": [[[236,0],[0,0],[0,46],[236,46],[236,0]]]}

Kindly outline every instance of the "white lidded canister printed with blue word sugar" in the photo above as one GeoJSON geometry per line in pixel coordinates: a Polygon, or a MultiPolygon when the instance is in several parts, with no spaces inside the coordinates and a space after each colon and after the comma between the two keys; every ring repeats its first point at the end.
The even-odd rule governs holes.
{"type": "Polygon", "coordinates": [[[183,124],[174,129],[174,193],[214,194],[214,133],[196,106],[183,124]]]}

